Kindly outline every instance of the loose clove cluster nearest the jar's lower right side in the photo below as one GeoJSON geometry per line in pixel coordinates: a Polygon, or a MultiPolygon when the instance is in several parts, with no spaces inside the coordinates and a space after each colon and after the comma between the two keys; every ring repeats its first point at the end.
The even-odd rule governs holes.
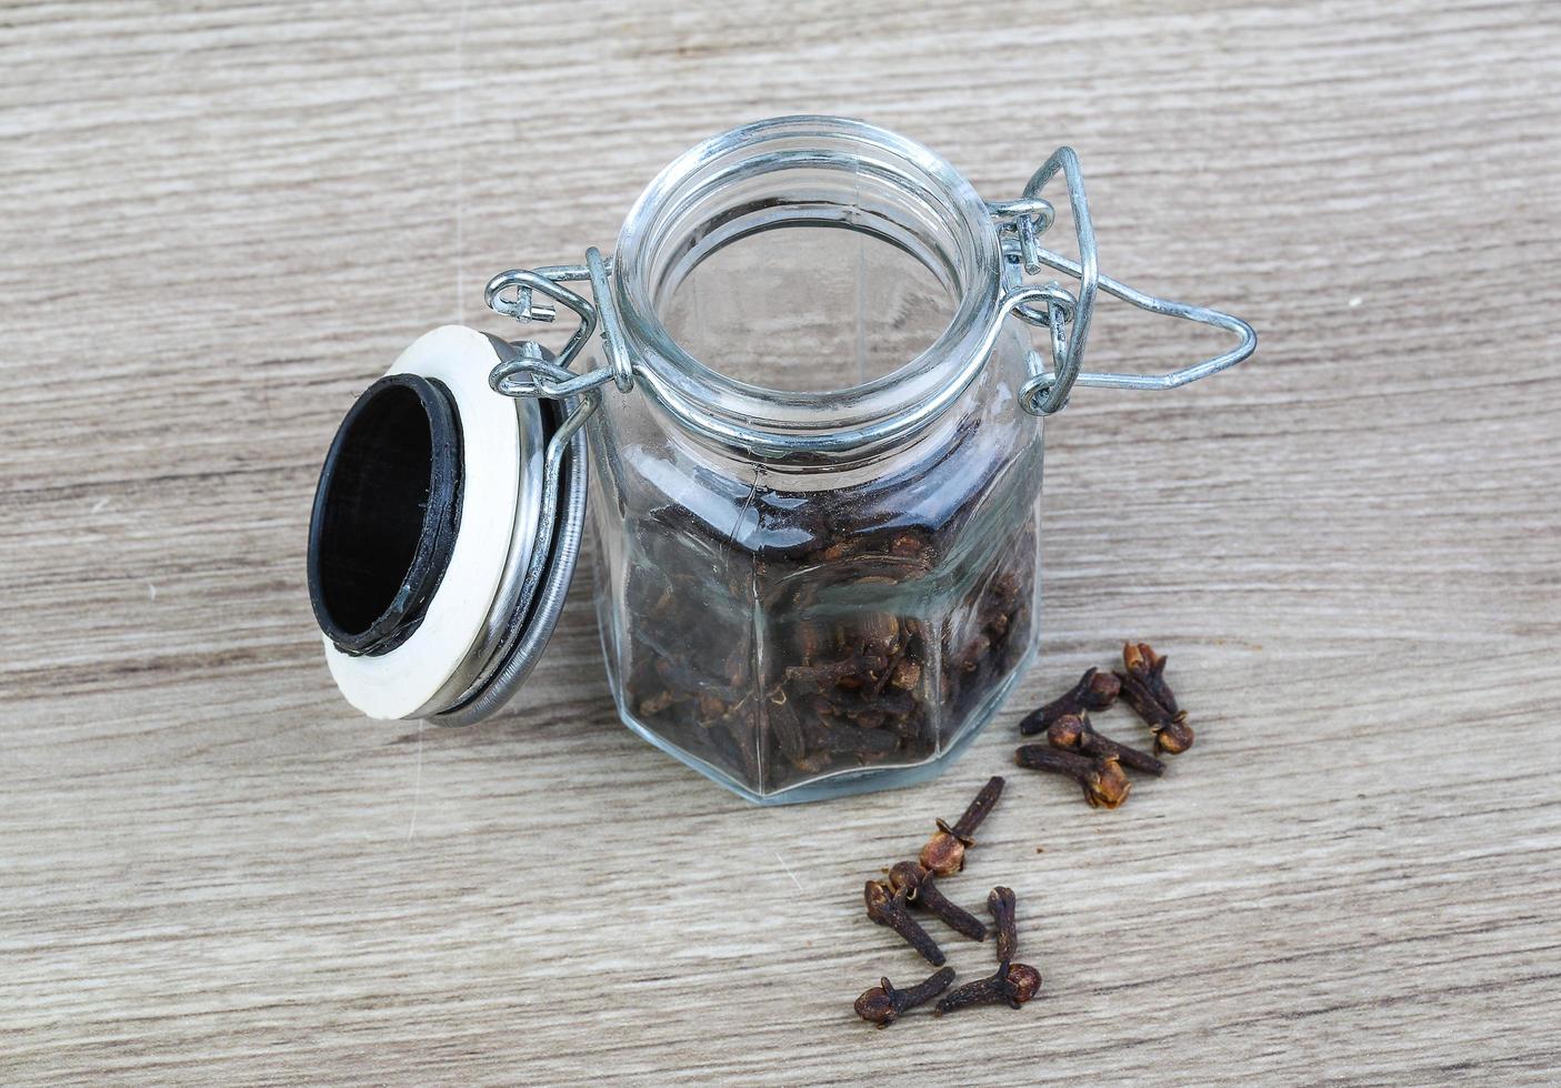
{"type": "Polygon", "coordinates": [[[1186,751],[1193,747],[1193,728],[1165,680],[1165,667],[1166,658],[1147,642],[1127,642],[1122,672],[1088,669],[1069,691],[1019,722],[1021,734],[1044,734],[1046,742],[1019,745],[1013,761],[1072,778],[1091,807],[1115,809],[1133,787],[1127,770],[1160,778],[1166,765],[1158,756],[1097,733],[1090,711],[1104,711],[1121,695],[1149,726],[1157,751],[1186,751]]]}

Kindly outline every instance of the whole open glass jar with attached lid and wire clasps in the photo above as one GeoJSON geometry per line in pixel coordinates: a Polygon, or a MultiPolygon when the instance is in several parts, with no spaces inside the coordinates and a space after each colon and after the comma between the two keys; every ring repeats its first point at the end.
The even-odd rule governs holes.
{"type": "MultiPolygon", "coordinates": [[[[1038,644],[1043,418],[1076,383],[1168,388],[1255,346],[1236,318],[1099,276],[1066,148],[1024,196],[991,204],[926,148],[832,117],[701,143],[640,196],[610,262],[590,249],[585,265],[501,273],[487,298],[521,321],[553,320],[546,299],[579,316],[556,359],[535,341],[468,330],[429,334],[445,343],[423,352],[440,374],[490,371],[489,393],[521,421],[515,457],[531,483],[517,493],[542,508],[521,511],[517,496],[498,511],[514,532],[490,532],[485,549],[503,561],[467,594],[489,602],[473,608],[471,641],[457,627],[442,648],[451,675],[404,692],[398,708],[470,722],[524,680],[573,570],[588,443],[595,600],[618,712],[762,803],[902,784],[954,759],[1038,644]],[[1058,171],[1077,263],[1038,243],[1054,218],[1040,192],[1058,171]],[[1077,293],[1026,279],[1043,268],[1077,276],[1077,293]],[[581,281],[593,301],[567,287],[581,281]],[[1171,376],[1085,374],[1097,290],[1241,341],[1171,376]],[[571,369],[582,357],[593,366],[571,369]]],[[[462,436],[457,460],[473,466],[489,440],[478,450],[462,436]]],[[[507,463],[509,447],[501,454],[507,463]]],[[[370,505],[351,480],[331,479],[339,460],[332,447],[317,525],[370,505]]],[[[401,538],[432,518],[448,547],[456,519],[459,552],[471,514],[464,499],[436,510],[448,477],[407,508],[401,538]]],[[[342,578],[329,570],[343,569],[339,556],[315,563],[331,539],[317,549],[312,530],[311,589],[322,583],[332,672],[364,705],[378,689],[354,672],[364,655],[340,613],[376,638],[386,613],[376,599],[334,614],[322,603],[342,578]]],[[[417,589],[434,603],[442,592],[428,592],[426,572],[417,589]]],[[[417,611],[412,597],[390,602],[393,619],[417,611]]],[[[382,655],[401,653],[395,630],[381,641],[382,655]]]]}

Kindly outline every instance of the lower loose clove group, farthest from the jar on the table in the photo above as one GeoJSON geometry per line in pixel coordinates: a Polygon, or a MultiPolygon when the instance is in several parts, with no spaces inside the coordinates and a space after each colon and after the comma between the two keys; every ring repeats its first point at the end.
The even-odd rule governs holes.
{"type": "Polygon", "coordinates": [[[994,887],[987,896],[987,910],[993,927],[974,913],[951,901],[940,882],[965,870],[965,854],[976,845],[974,832],[1002,797],[1004,779],[994,776],[971,801],[954,825],[937,821],[937,831],[921,848],[916,859],[890,865],[887,879],[868,881],[863,892],[868,918],[893,929],[924,960],[938,968],[923,982],[896,988],[887,977],[868,988],[855,1001],[857,1016],[888,1027],[904,1013],[940,998],[935,1013],[943,1016],[969,1005],[1004,1002],[1018,1009],[1041,987],[1041,974],[1027,963],[1015,963],[1018,954],[1018,899],[1012,888],[994,887]],[[943,949],[923,927],[913,910],[926,912],[943,921],[949,929],[976,941],[985,941],[996,934],[997,970],[993,974],[966,982],[944,991],[954,984],[954,968],[944,966],[943,949]]]}

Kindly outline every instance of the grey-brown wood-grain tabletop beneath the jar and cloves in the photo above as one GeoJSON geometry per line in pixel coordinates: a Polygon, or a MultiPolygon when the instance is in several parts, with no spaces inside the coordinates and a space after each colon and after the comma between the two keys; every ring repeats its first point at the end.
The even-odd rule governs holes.
{"type": "Polygon", "coordinates": [[[1553,3],[6,5],[0,1080],[1553,1080],[1558,176],[1553,3]],[[582,578],[503,719],[356,717],[303,586],[354,393],[799,111],[990,198],[1072,143],[1105,271],[1261,334],[1049,429],[1021,697],[751,809],[617,723],[582,578]],[[1127,634],[1197,747],[1118,812],[1016,772],[949,884],[1043,998],[854,1021],[921,974],[862,881],[1127,634]]]}

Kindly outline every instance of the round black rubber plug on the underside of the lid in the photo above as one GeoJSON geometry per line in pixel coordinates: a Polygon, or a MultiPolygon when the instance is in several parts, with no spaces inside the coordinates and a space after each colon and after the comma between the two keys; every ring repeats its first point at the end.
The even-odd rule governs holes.
{"type": "Polygon", "coordinates": [[[314,619],[342,653],[389,653],[423,622],[460,528],[460,413],[437,380],[389,374],[343,416],[308,558],[314,619]]]}

